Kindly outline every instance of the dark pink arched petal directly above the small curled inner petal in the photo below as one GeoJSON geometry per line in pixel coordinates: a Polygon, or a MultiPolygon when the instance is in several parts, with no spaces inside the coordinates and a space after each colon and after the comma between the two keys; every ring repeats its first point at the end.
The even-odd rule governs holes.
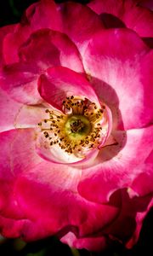
{"type": "Polygon", "coordinates": [[[48,67],[64,66],[83,72],[82,61],[75,44],[63,33],[42,29],[31,34],[20,48],[22,61],[32,62],[42,71],[48,67]]]}

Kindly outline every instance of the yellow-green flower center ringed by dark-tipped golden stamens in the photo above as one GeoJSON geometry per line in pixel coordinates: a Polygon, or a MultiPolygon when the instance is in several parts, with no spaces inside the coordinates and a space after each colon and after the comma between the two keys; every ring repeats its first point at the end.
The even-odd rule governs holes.
{"type": "Polygon", "coordinates": [[[63,102],[63,113],[50,109],[46,113],[48,119],[38,125],[50,147],[58,145],[68,154],[82,155],[82,151],[97,148],[101,143],[105,106],[98,108],[88,99],[71,96],[63,102]]]}

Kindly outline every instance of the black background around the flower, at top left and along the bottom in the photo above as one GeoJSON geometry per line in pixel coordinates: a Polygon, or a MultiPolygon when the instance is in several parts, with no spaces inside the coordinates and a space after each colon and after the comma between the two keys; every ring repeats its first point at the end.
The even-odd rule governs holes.
{"type": "MultiPolygon", "coordinates": [[[[0,26],[16,23],[24,10],[35,0],[5,0],[0,2],[0,26]]],[[[65,2],[57,0],[57,3],[65,2]]],[[[88,0],[74,1],[88,3],[88,0]]],[[[71,250],[62,244],[56,237],[48,237],[41,241],[26,243],[20,239],[0,239],[0,256],[153,256],[153,210],[144,219],[143,229],[140,233],[138,243],[131,250],[125,249],[121,244],[115,242],[109,250],[103,253],[91,253],[87,250],[71,250]]]]}

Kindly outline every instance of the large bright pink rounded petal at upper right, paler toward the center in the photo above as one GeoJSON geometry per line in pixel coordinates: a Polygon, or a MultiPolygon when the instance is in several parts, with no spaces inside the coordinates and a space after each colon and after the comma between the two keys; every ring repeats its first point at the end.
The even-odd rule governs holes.
{"type": "Polygon", "coordinates": [[[120,128],[142,127],[152,120],[152,58],[137,35],[126,29],[100,32],[88,44],[83,55],[85,70],[98,80],[91,83],[99,97],[110,108],[119,104],[120,128]]]}

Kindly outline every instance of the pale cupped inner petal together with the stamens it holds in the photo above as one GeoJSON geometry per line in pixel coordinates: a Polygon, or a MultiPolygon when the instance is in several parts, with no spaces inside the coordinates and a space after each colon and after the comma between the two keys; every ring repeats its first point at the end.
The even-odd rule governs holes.
{"type": "Polygon", "coordinates": [[[37,152],[43,158],[60,163],[93,159],[111,130],[108,107],[79,96],[66,97],[62,112],[46,109],[48,119],[38,124],[37,152]]]}

